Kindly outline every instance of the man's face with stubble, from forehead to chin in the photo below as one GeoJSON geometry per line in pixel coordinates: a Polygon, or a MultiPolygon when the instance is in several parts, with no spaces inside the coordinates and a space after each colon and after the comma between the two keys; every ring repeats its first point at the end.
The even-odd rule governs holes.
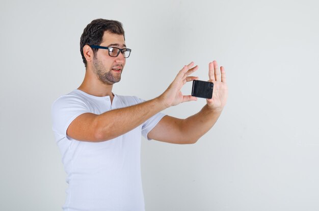
{"type": "MultiPolygon", "coordinates": [[[[126,48],[123,35],[110,32],[104,32],[100,46],[126,48]]],[[[119,82],[124,65],[125,58],[121,53],[117,57],[111,57],[107,49],[98,49],[93,57],[93,71],[103,84],[113,85],[119,82]]]]}

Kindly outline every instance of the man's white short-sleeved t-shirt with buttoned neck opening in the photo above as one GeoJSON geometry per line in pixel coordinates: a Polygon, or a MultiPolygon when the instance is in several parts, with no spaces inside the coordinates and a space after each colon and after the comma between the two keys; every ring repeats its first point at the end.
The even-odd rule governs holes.
{"type": "Polygon", "coordinates": [[[104,142],[83,142],[66,135],[70,123],[84,113],[104,112],[138,104],[133,96],[97,97],[74,90],[52,105],[53,131],[69,184],[64,210],[144,210],[141,180],[141,135],[165,115],[158,113],[128,133],[104,142]]]}

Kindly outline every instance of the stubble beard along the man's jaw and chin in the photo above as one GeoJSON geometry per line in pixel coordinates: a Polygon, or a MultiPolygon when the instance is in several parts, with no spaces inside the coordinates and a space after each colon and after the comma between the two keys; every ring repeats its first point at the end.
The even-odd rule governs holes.
{"type": "Polygon", "coordinates": [[[98,80],[103,84],[113,85],[121,80],[121,74],[113,75],[112,70],[107,70],[101,61],[93,58],[94,73],[97,75],[98,80]]]}

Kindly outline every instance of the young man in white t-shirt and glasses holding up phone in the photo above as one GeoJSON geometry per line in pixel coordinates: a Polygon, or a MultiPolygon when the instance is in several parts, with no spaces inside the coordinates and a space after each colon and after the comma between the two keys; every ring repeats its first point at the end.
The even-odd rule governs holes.
{"type": "Polygon", "coordinates": [[[187,119],[159,112],[196,100],[180,92],[186,82],[197,79],[190,76],[198,68],[193,62],[154,99],[143,101],[112,93],[130,51],[120,22],[93,20],[81,36],[84,81],[52,105],[53,130],[69,183],[65,210],[144,210],[141,135],[168,143],[195,143],[224,108],[226,76],[215,61],[209,63],[213,96],[199,113],[187,119]]]}

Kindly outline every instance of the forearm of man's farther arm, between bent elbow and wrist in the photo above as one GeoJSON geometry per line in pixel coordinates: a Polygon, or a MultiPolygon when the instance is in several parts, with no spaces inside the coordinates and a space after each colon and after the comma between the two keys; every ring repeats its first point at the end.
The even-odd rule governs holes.
{"type": "Polygon", "coordinates": [[[207,104],[197,114],[184,119],[180,123],[180,131],[184,140],[195,143],[214,126],[222,110],[211,110],[207,104]]]}

